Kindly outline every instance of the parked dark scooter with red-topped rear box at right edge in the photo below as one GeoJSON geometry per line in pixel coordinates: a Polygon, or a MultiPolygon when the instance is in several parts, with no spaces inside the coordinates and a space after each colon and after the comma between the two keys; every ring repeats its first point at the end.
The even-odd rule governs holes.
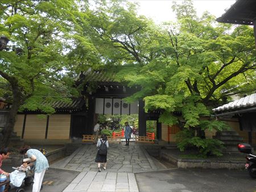
{"type": "Polygon", "coordinates": [[[256,178],[256,156],[251,154],[251,145],[247,143],[241,143],[237,146],[238,151],[241,153],[246,153],[246,164],[245,168],[248,169],[249,174],[252,178],[256,178]]]}

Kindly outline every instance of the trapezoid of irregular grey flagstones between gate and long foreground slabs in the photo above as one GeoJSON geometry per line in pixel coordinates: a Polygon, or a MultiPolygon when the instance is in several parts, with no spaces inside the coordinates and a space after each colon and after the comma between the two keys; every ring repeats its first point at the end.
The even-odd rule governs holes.
{"type": "MultiPolygon", "coordinates": [[[[80,170],[82,172],[97,172],[94,162],[96,145],[82,145],[71,156],[51,165],[53,168],[80,170]]],[[[140,145],[110,144],[108,149],[107,169],[110,172],[140,173],[159,168],[154,160],[140,145]]],[[[162,167],[164,168],[164,167],[162,167]]]]}

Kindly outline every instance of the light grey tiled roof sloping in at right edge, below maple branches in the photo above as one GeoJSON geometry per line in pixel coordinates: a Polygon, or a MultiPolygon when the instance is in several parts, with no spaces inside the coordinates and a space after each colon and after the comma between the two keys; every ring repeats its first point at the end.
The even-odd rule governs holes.
{"type": "Polygon", "coordinates": [[[238,110],[240,108],[248,108],[248,107],[252,107],[252,106],[256,106],[256,93],[251,94],[247,97],[243,97],[241,99],[238,99],[236,101],[227,103],[225,105],[222,105],[220,107],[217,108],[213,108],[214,112],[218,112],[218,111],[225,111],[225,110],[238,110]]]}

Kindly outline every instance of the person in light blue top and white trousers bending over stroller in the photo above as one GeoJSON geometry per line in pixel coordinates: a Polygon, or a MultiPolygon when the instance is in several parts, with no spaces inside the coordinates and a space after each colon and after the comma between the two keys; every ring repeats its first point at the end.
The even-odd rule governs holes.
{"type": "MultiPolygon", "coordinates": [[[[30,164],[26,166],[32,166],[34,162],[34,183],[32,191],[39,192],[42,186],[42,181],[44,178],[44,173],[46,169],[49,168],[48,160],[46,156],[43,155],[38,149],[31,149],[29,146],[24,146],[20,149],[20,154],[27,155],[30,160],[30,164]]],[[[26,168],[26,167],[25,167],[26,168]]]]}

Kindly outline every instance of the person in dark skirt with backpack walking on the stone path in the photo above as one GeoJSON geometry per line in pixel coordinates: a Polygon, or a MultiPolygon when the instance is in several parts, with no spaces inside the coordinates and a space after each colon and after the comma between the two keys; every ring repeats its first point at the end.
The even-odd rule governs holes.
{"type": "Polygon", "coordinates": [[[107,151],[109,148],[109,141],[106,135],[101,135],[101,139],[97,142],[97,155],[95,158],[95,162],[98,163],[98,172],[101,172],[101,164],[103,165],[103,169],[106,170],[106,158],[107,158],[107,151]]]}

